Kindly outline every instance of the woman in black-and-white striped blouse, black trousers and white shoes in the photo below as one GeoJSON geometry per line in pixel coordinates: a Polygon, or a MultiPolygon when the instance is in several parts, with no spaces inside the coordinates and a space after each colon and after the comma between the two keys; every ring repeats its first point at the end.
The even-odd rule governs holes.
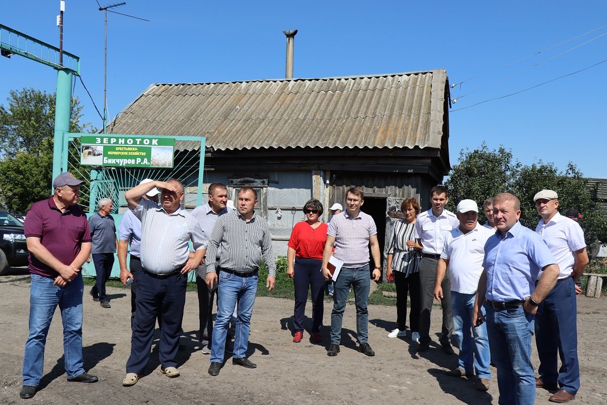
{"type": "Polygon", "coordinates": [[[421,245],[415,242],[415,219],[419,214],[416,199],[407,198],[401,203],[403,218],[395,223],[388,244],[388,268],[385,275],[394,277],[396,284],[396,323],[398,328],[388,334],[388,338],[407,336],[407,292],[411,298],[410,329],[411,339],[419,341],[419,312],[421,296],[419,291],[419,253],[421,245]]]}

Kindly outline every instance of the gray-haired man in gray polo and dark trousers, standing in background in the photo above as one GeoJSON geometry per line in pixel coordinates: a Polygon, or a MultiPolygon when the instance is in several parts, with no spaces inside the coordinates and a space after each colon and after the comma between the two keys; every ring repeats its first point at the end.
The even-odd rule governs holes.
{"type": "Polygon", "coordinates": [[[97,278],[95,285],[89,294],[93,301],[99,301],[101,307],[110,308],[109,299],[106,297],[106,282],[112,273],[114,266],[114,253],[116,253],[116,225],[114,218],[110,215],[114,206],[112,200],[101,199],[98,203],[99,211],[89,218],[91,243],[91,256],[95,264],[97,278]]]}

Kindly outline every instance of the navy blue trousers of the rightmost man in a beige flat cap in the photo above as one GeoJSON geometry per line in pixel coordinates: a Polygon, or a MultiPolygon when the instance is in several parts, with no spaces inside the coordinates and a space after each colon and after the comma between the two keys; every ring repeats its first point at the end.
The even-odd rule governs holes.
{"type": "Polygon", "coordinates": [[[575,395],[580,389],[577,358],[577,300],[573,278],[557,282],[535,315],[535,343],[540,378],[575,395]],[[558,369],[558,357],[561,367],[558,369]]]}

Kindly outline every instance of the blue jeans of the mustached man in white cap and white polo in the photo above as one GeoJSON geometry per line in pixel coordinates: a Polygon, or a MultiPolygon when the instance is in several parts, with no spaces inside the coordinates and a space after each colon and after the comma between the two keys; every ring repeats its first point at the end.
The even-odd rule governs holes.
{"type": "MultiPolygon", "coordinates": [[[[463,294],[451,291],[451,314],[453,315],[453,333],[459,348],[459,368],[466,373],[474,374],[478,378],[491,378],[489,363],[489,339],[487,338],[487,325],[472,327],[472,310],[476,293],[463,294]],[[472,329],[472,334],[470,334],[472,329]]],[[[483,315],[485,308],[481,307],[483,315]]]]}

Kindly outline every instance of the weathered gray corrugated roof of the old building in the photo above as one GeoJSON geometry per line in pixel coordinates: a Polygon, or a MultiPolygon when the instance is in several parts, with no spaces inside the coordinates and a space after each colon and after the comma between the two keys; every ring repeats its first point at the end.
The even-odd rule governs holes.
{"type": "MultiPolygon", "coordinates": [[[[440,148],[446,70],[364,77],[152,84],[114,134],[206,136],[212,149],[440,148]]],[[[198,148],[180,141],[180,150],[198,148]]]]}

